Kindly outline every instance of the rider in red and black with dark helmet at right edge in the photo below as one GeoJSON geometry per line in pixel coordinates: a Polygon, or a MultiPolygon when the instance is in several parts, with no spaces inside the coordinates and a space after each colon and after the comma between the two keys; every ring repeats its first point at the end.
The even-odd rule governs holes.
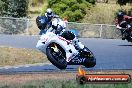
{"type": "MultiPolygon", "coordinates": [[[[130,24],[132,21],[132,17],[125,15],[122,11],[117,13],[117,19],[116,19],[116,28],[120,29],[121,34],[122,34],[122,40],[125,39],[125,34],[124,34],[124,28],[130,29],[132,25],[130,24]]],[[[130,35],[130,32],[126,30],[126,33],[130,35]]]]}

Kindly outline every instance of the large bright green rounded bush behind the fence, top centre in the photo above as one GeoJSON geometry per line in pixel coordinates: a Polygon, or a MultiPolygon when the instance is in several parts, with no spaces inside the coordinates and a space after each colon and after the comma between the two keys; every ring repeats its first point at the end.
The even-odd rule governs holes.
{"type": "Polygon", "coordinates": [[[48,8],[60,17],[67,17],[68,21],[80,21],[92,4],[95,0],[48,0],[48,8]]]}

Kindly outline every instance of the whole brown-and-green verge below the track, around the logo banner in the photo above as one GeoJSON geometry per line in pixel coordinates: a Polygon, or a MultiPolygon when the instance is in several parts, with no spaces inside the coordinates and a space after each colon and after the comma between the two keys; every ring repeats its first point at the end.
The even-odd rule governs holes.
{"type": "MultiPolygon", "coordinates": [[[[131,73],[132,71],[129,72],[131,73]]],[[[129,73],[129,72],[125,71],[125,73],[129,73]]],[[[103,74],[105,72],[100,72],[98,74],[101,73],[103,74]]],[[[106,73],[108,74],[111,72],[107,71],[106,73]]],[[[67,72],[0,75],[1,78],[0,88],[132,88],[132,82],[128,84],[80,85],[76,82],[75,77],[76,77],[76,73],[67,73],[67,72]]]]}

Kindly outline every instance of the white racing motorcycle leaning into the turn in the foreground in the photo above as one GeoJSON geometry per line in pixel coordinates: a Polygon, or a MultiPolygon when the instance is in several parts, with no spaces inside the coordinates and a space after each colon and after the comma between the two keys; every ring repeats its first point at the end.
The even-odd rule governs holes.
{"type": "Polygon", "coordinates": [[[36,48],[46,54],[48,60],[59,69],[66,69],[67,65],[94,67],[96,59],[93,53],[84,45],[83,49],[77,50],[72,42],[73,38],[75,36],[69,31],[63,32],[61,36],[53,31],[47,31],[41,35],[36,48]]]}

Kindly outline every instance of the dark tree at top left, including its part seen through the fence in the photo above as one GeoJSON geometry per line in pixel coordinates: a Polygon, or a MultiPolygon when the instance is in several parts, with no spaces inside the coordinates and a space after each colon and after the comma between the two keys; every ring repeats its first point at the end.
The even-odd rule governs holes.
{"type": "MultiPolygon", "coordinates": [[[[26,17],[28,0],[0,0],[1,16],[26,17]],[[1,4],[2,2],[2,4],[1,4]]],[[[0,19],[0,32],[5,34],[23,33],[27,27],[27,20],[0,19]]]]}

